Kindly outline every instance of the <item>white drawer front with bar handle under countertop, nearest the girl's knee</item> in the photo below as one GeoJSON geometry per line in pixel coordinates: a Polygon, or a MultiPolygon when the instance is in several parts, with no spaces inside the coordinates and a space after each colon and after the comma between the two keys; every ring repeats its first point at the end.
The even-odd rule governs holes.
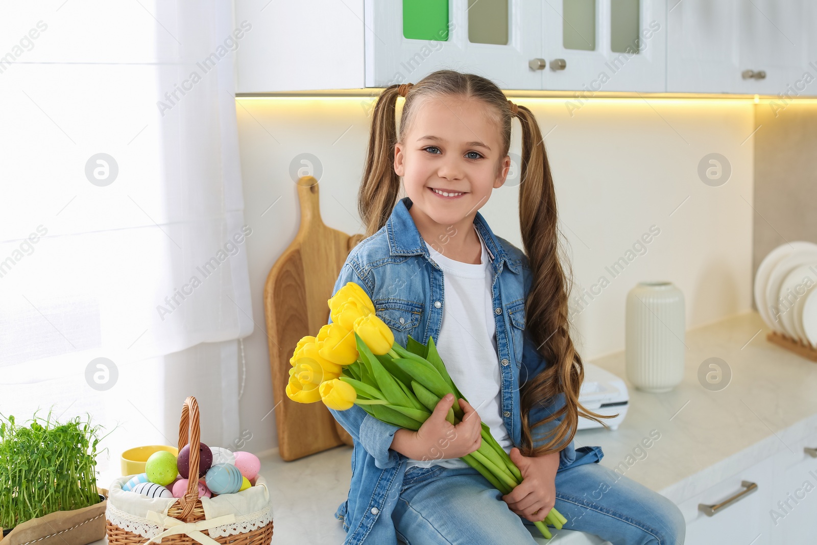
{"type": "Polygon", "coordinates": [[[727,477],[678,507],[686,520],[687,545],[721,545],[722,543],[770,543],[769,509],[773,495],[776,458],[766,458],[734,476],[727,477]],[[699,510],[699,503],[721,503],[745,488],[741,481],[757,485],[752,493],[723,507],[714,516],[699,510]]]}

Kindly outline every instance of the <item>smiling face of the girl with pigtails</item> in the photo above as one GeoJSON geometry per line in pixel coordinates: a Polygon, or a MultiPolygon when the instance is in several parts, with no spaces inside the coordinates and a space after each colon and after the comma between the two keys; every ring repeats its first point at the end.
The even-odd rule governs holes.
{"type": "Polygon", "coordinates": [[[417,205],[410,210],[441,226],[473,221],[511,167],[499,155],[498,123],[484,102],[462,96],[432,97],[415,107],[404,141],[395,145],[395,172],[417,205]]]}

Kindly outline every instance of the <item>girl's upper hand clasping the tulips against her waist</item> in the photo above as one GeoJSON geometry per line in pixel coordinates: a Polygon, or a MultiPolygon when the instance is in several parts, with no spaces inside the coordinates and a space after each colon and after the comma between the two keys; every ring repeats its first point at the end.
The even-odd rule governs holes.
{"type": "Polygon", "coordinates": [[[466,400],[460,399],[462,422],[454,426],[445,419],[453,406],[453,394],[445,395],[435,406],[431,416],[415,432],[421,460],[461,458],[480,448],[482,421],[480,415],[466,400]]]}

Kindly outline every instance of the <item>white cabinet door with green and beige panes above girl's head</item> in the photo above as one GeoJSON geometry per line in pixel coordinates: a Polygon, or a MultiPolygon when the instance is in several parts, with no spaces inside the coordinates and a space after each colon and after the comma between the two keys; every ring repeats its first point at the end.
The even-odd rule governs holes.
{"type": "Polygon", "coordinates": [[[541,56],[541,2],[364,0],[364,22],[366,87],[417,83],[449,68],[503,89],[542,88],[542,70],[529,68],[541,56]]]}

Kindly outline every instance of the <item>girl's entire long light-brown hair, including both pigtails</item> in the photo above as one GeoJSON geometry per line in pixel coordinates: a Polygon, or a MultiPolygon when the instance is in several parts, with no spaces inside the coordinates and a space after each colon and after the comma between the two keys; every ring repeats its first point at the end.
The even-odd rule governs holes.
{"type": "MultiPolygon", "coordinates": [[[[358,210],[366,226],[365,237],[373,235],[386,224],[397,202],[400,176],[394,169],[395,144],[402,142],[417,101],[432,96],[462,96],[483,101],[488,113],[495,112],[502,132],[502,153],[511,147],[511,104],[502,90],[489,79],[454,70],[438,70],[422,78],[408,90],[400,116],[400,132],[395,127],[395,104],[399,85],[387,87],[377,98],[368,141],[368,153],[363,181],[358,194],[358,210]]],[[[405,87],[404,87],[405,88],[405,87]]],[[[569,277],[560,261],[559,232],[556,226],[556,191],[542,133],[534,114],[525,106],[517,106],[516,117],[522,127],[521,184],[519,194],[522,243],[528,257],[532,283],[525,300],[525,329],[538,353],[552,362],[520,391],[522,445],[526,456],[557,452],[573,440],[578,415],[592,418],[614,418],[593,413],[578,402],[579,388],[584,380],[581,356],[570,339],[568,321],[569,277]],[[565,405],[542,421],[530,424],[528,415],[542,400],[552,402],[565,394],[565,405]],[[534,449],[533,431],[564,415],[551,430],[547,442],[534,449]]],[[[566,260],[565,260],[566,261],[566,260]]]]}

